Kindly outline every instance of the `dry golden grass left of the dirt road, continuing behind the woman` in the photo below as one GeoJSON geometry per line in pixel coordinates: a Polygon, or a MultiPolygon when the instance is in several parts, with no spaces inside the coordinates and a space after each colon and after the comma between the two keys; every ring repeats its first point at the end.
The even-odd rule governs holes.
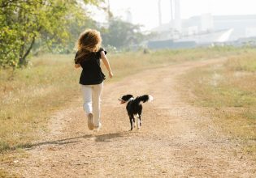
{"type": "MultiPolygon", "coordinates": [[[[182,61],[245,53],[245,49],[231,47],[213,49],[161,50],[150,53],[108,53],[115,82],[124,76],[154,67],[182,61]]],[[[73,67],[74,55],[43,55],[34,57],[28,68],[0,70],[0,163],[10,161],[11,151],[30,146],[41,133],[47,132],[50,116],[80,97],[80,70],[73,67]]],[[[106,73],[107,74],[107,73],[106,73]]],[[[254,117],[254,112],[246,112],[254,117]]],[[[0,175],[7,173],[0,170],[0,175]]]]}

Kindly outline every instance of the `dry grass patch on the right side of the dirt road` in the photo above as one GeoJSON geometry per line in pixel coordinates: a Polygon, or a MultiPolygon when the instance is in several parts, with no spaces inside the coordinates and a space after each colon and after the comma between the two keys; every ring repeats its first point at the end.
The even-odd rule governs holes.
{"type": "Polygon", "coordinates": [[[256,52],[229,57],[223,65],[207,66],[183,76],[189,102],[208,109],[215,124],[256,159],[256,52]]]}

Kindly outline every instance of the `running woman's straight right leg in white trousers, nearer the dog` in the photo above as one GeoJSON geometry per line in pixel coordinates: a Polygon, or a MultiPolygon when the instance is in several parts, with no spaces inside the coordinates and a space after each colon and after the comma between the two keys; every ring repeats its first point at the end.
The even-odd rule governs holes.
{"type": "Polygon", "coordinates": [[[101,95],[102,95],[103,83],[93,85],[93,124],[95,127],[100,125],[101,115],[101,95]]]}

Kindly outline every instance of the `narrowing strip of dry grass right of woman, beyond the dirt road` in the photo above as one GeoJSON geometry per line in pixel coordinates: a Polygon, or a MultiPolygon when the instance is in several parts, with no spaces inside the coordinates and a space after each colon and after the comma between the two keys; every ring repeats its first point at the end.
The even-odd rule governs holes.
{"type": "MultiPolygon", "coordinates": [[[[206,60],[210,58],[232,56],[238,53],[245,53],[245,49],[236,49],[233,47],[215,47],[198,49],[164,49],[151,51],[150,53],[128,52],[128,53],[108,53],[111,59],[111,67],[114,71],[115,82],[127,76],[134,74],[139,70],[167,66],[183,61],[206,60]]],[[[106,73],[107,74],[107,73],[106,73]]]]}

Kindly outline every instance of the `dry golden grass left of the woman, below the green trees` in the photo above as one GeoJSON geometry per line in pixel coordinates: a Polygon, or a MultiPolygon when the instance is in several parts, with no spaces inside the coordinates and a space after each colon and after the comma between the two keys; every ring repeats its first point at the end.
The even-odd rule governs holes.
{"type": "Polygon", "coordinates": [[[73,70],[71,56],[53,57],[35,58],[33,66],[15,71],[11,80],[1,71],[0,150],[28,146],[36,132],[44,131],[50,112],[74,97],[77,88],[67,83],[79,72],[73,70]]]}

